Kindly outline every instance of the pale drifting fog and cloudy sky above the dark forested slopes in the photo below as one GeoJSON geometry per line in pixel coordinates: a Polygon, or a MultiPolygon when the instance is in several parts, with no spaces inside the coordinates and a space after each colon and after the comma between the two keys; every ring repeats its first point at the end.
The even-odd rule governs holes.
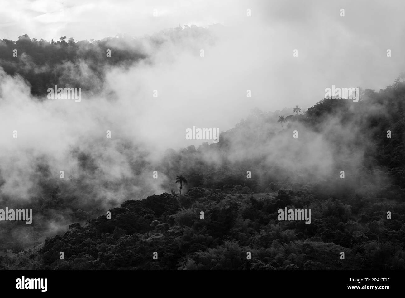
{"type": "MultiPolygon", "coordinates": [[[[221,5],[216,1],[194,1],[193,5],[177,1],[170,7],[164,1],[128,2],[129,6],[122,7],[107,1],[97,2],[97,6],[94,2],[72,2],[71,6],[48,1],[21,3],[25,8],[11,7],[0,13],[2,19],[8,15],[0,27],[1,39],[16,40],[28,33],[37,39],[57,40],[66,35],[90,40],[122,33],[121,47],[133,47],[147,58],[125,66],[100,65],[105,81],[98,80],[83,61],[61,62],[59,67],[66,69],[66,74],[58,87],[77,87],[62,86],[71,81],[90,86],[82,92],[80,103],[47,99],[46,90],[42,97],[32,96],[23,78],[0,70],[0,194],[2,202],[9,205],[48,195],[40,186],[45,180],[59,183],[66,193],[77,196],[80,203],[75,204],[85,212],[167,192],[166,185],[175,177],[159,172],[158,180],[152,178],[166,149],[198,147],[205,141],[185,139],[186,129],[196,126],[228,131],[255,107],[262,111],[288,108],[293,114],[295,105],[307,109],[332,85],[378,90],[404,67],[399,58],[403,39],[390,40],[386,35],[387,30],[393,30],[400,36],[403,27],[390,26],[384,19],[399,17],[401,9],[396,6],[402,2],[384,7],[360,1],[328,6],[320,1],[223,1],[221,5]],[[347,15],[340,17],[343,6],[347,15]],[[154,7],[161,13],[157,18],[152,15],[154,7]],[[246,16],[249,8],[252,17],[246,16]],[[31,17],[23,21],[17,13],[9,13],[10,9],[31,17]],[[63,21],[55,16],[61,9],[66,17],[63,21]],[[377,16],[375,9],[390,13],[377,16]],[[181,27],[173,34],[160,32],[179,23],[181,27]],[[207,30],[192,31],[185,24],[207,30]],[[158,46],[153,42],[156,39],[161,39],[158,46]],[[298,57],[293,57],[293,49],[298,49],[298,57]],[[391,58],[386,49],[392,49],[391,58]],[[153,97],[154,90],[157,97],[153,97]],[[246,96],[247,90],[252,97],[246,96]],[[106,137],[108,130],[111,138],[106,137]],[[13,131],[17,131],[17,138],[13,138],[13,131]],[[38,169],[38,165],[45,168],[38,169]],[[60,171],[64,171],[63,180],[60,171]],[[69,175],[74,177],[72,181],[69,175]]],[[[0,6],[5,7],[3,4],[0,6]]],[[[105,53],[106,49],[98,51],[105,53]]],[[[35,71],[50,71],[46,65],[39,68],[24,54],[19,59],[35,71]]],[[[258,122],[248,131],[233,134],[227,158],[237,162],[264,154],[265,166],[281,165],[297,176],[307,175],[308,180],[335,175],[338,165],[354,169],[361,164],[367,144],[357,152],[339,151],[328,140],[332,131],[341,135],[342,143],[355,139],[359,133],[355,123],[341,126],[338,115],[327,119],[320,132],[292,125],[280,133],[278,115],[270,123],[258,122]],[[292,138],[294,129],[301,139],[292,138]],[[249,135],[261,138],[267,131],[274,134],[269,141],[246,141],[249,135]],[[299,157],[300,162],[292,157],[299,157]]],[[[220,167],[222,159],[217,153],[203,156],[207,163],[218,162],[220,167]]],[[[77,220],[72,216],[76,211],[55,211],[54,219],[43,219],[48,225],[44,229],[66,228],[77,220]]],[[[42,221],[34,214],[35,220],[42,221]]]]}

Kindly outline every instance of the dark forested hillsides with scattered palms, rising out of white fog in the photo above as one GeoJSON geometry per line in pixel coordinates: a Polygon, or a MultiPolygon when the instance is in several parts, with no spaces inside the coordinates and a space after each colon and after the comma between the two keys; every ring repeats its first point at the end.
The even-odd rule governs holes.
{"type": "MultiPolygon", "coordinates": [[[[62,36],[47,42],[25,34],[0,42],[1,76],[22,77],[40,101],[57,84],[96,94],[111,65],[147,60],[145,47],[182,35],[210,41],[196,26],[147,41],[66,42],[62,36]],[[106,60],[105,48],[117,54],[106,60]]],[[[3,100],[1,88],[0,94],[3,100]]],[[[218,143],[168,148],[158,159],[125,137],[113,147],[84,139],[88,147],[70,149],[77,167],[64,181],[52,157],[30,155],[30,197],[0,194],[2,206],[32,209],[34,221],[29,227],[0,222],[0,268],[405,269],[404,108],[405,83],[397,79],[378,92],[361,90],[357,103],[324,98],[306,111],[283,110],[282,129],[280,112],[255,109],[218,143]],[[102,166],[109,154],[128,176],[109,176],[102,166]],[[153,179],[153,171],[162,178],[153,179]],[[180,175],[186,182],[178,195],[180,175]],[[311,209],[311,224],[278,221],[277,210],[285,207],[311,209]]],[[[0,172],[0,189],[6,180],[0,172]]]]}

